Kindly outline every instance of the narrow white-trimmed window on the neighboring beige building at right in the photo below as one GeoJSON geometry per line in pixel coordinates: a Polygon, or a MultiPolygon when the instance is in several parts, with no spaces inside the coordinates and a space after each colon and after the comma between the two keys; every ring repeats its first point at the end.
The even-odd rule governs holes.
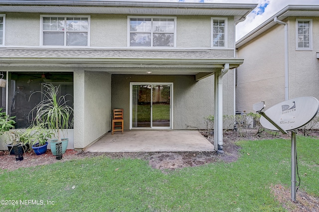
{"type": "Polygon", "coordinates": [[[312,50],[312,19],[296,19],[296,49],[312,50]]]}

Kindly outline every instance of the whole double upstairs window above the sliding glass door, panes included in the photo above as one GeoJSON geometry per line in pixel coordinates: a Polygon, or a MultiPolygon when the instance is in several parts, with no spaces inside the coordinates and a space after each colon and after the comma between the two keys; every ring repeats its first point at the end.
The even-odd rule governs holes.
{"type": "Polygon", "coordinates": [[[128,17],[128,46],[175,47],[175,17],[128,17]]]}

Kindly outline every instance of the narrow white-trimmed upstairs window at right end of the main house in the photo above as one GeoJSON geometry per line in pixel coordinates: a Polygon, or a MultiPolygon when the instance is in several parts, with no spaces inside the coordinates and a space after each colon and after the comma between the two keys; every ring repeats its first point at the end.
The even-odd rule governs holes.
{"type": "Polygon", "coordinates": [[[227,47],[227,18],[211,18],[211,47],[227,47]]]}

